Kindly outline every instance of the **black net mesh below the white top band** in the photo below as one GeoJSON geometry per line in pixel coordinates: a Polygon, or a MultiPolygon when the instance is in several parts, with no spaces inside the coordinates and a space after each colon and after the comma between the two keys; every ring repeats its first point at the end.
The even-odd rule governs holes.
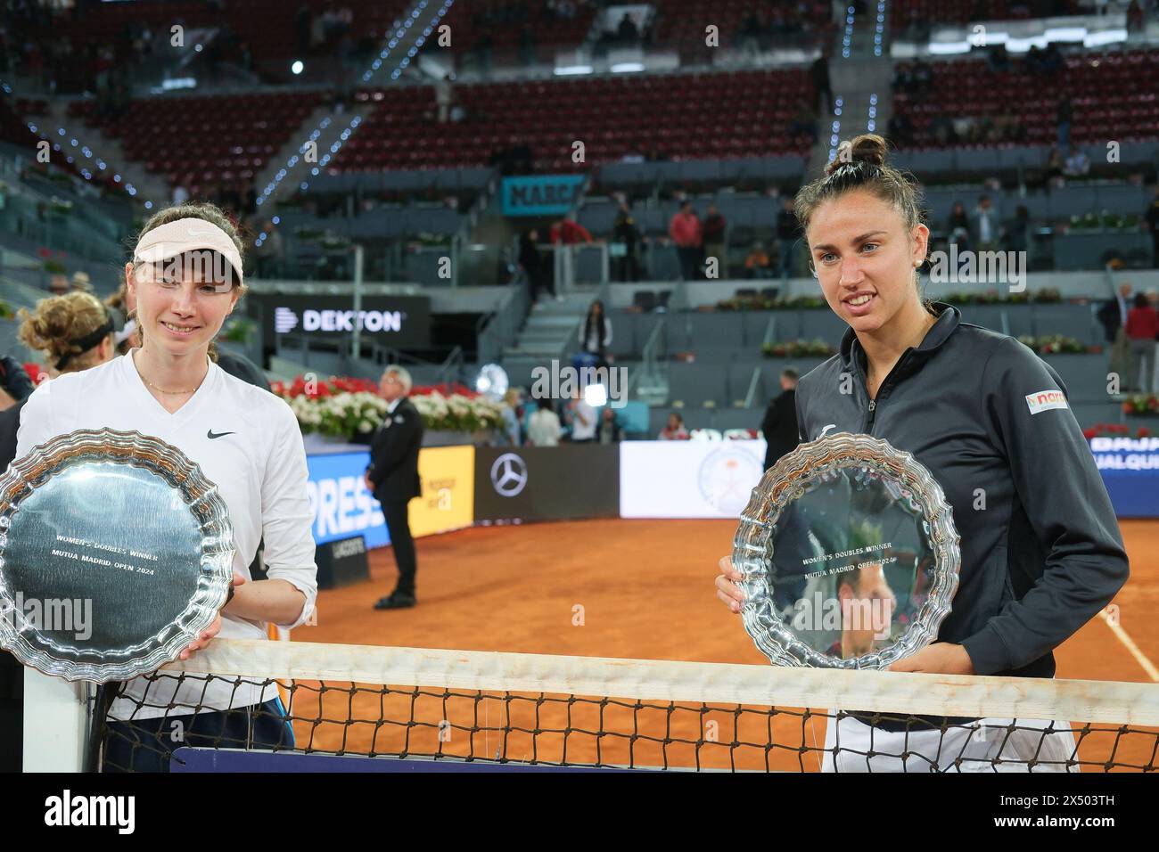
{"type": "Polygon", "coordinates": [[[181,748],[783,772],[1151,772],[1159,753],[1157,729],[1127,724],[184,672],[111,685],[109,709],[101,704],[93,730],[104,772],[167,771],[181,748]],[[260,700],[204,702],[223,689],[260,700]]]}

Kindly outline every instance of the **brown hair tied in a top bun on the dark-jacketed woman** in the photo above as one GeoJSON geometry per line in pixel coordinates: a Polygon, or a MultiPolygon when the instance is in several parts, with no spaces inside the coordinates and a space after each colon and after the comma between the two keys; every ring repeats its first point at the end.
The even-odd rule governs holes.
{"type": "Polygon", "coordinates": [[[837,158],[825,167],[825,174],[796,194],[797,221],[808,230],[817,207],[846,192],[866,190],[891,205],[912,228],[925,218],[924,194],[918,182],[906,173],[887,165],[888,145],[876,133],[862,133],[846,139],[837,148],[837,158]]]}

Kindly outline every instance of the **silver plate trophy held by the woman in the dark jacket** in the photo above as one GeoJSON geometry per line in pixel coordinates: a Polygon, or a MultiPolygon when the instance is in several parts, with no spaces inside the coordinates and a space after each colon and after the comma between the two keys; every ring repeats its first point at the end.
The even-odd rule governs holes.
{"type": "Polygon", "coordinates": [[[883,669],[927,645],[961,565],[941,486],[907,452],[840,432],[765,472],[732,565],[744,627],[778,665],[883,669]]]}

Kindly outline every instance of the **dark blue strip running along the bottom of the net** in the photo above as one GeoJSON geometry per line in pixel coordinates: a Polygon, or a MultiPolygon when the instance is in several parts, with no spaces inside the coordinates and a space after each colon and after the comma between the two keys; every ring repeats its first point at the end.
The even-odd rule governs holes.
{"type": "MultiPolygon", "coordinates": [[[[177,749],[170,772],[619,772],[593,766],[542,766],[461,759],[403,759],[300,751],[177,749]]],[[[629,770],[622,770],[627,772],[629,770]]],[[[636,770],[637,771],[637,770],[636,770]]]]}

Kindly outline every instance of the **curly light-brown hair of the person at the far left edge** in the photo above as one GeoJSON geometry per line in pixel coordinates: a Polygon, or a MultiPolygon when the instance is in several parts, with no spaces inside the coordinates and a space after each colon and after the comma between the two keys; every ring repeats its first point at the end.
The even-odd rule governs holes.
{"type": "MultiPolygon", "coordinates": [[[[109,321],[108,311],[92,293],[75,291],[64,296],[51,296],[36,303],[29,312],[22,307],[16,336],[29,349],[44,354],[49,366],[61,373],[88,370],[97,364],[97,347],[101,341],[81,348],[74,341],[82,340],[109,321]],[[57,367],[61,361],[64,363],[57,367]]],[[[110,330],[108,336],[112,336],[110,330]]]]}

